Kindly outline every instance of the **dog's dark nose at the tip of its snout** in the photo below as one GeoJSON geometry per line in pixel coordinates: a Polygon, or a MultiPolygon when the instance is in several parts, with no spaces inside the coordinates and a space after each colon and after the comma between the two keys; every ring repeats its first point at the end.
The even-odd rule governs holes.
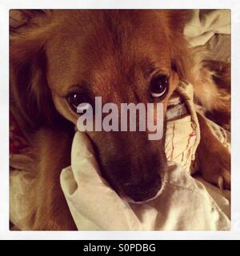
{"type": "Polygon", "coordinates": [[[150,177],[145,182],[126,182],[122,189],[127,197],[134,200],[134,202],[144,202],[154,198],[161,189],[162,182],[160,176],[150,177]]]}

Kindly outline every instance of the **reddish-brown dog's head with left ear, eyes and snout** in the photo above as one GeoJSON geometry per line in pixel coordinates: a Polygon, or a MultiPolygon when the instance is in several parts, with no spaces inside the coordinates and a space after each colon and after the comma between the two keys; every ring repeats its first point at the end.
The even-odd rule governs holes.
{"type": "MultiPolygon", "coordinates": [[[[13,16],[14,11],[12,10],[13,16]]],[[[30,127],[75,125],[77,106],[162,102],[164,113],[190,57],[182,36],[186,10],[22,10],[11,20],[14,101],[30,127]],[[18,20],[21,20],[19,25],[18,20]]],[[[166,169],[164,138],[148,132],[86,132],[103,177],[136,202],[153,198],[166,169]]]]}

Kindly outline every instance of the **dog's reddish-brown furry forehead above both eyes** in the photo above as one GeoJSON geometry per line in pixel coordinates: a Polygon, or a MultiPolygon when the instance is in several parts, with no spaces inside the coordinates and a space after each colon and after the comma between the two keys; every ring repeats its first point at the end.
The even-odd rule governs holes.
{"type": "Polygon", "coordinates": [[[60,17],[48,47],[50,75],[57,84],[78,84],[93,73],[100,80],[116,78],[122,66],[169,58],[167,26],[154,12],[76,10],[60,17]]]}

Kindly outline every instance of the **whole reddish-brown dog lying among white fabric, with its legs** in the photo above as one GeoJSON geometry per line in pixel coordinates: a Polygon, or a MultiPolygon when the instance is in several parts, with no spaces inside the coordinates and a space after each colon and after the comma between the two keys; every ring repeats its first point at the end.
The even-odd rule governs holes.
{"type": "MultiPolygon", "coordinates": [[[[59,176],[70,165],[82,102],[95,96],[103,104],[162,102],[166,114],[179,81],[187,81],[195,102],[230,127],[230,70],[190,49],[183,36],[190,10],[10,10],[10,17],[10,105],[36,170],[34,205],[19,229],[76,230],[59,176]]],[[[200,113],[198,120],[202,175],[230,186],[230,154],[200,113]]],[[[162,186],[159,172],[166,171],[164,137],[150,141],[147,131],[86,134],[102,176],[117,193],[135,202],[154,198],[162,186]]]]}

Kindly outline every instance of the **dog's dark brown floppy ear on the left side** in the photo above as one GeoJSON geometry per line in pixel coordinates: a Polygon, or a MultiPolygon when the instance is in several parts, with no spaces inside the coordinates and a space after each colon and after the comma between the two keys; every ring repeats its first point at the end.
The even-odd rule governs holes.
{"type": "Polygon", "coordinates": [[[45,10],[10,10],[10,104],[18,109],[25,129],[58,116],[46,80],[49,23],[45,10]]]}

